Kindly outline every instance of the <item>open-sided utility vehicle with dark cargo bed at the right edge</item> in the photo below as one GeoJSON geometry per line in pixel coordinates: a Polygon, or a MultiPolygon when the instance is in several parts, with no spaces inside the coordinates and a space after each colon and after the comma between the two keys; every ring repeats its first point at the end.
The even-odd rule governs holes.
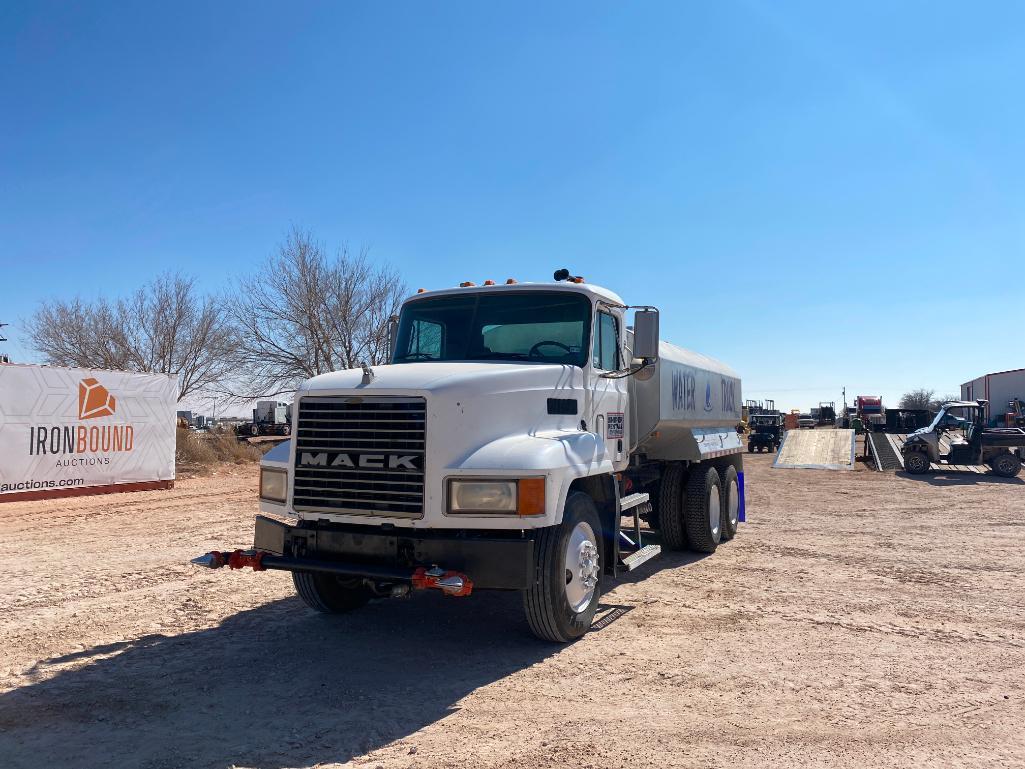
{"type": "Polygon", "coordinates": [[[1025,428],[987,428],[987,401],[944,403],[933,422],[904,441],[904,470],[918,475],[932,464],[986,464],[998,476],[1014,478],[1025,458],[1025,428]],[[940,453],[940,436],[948,434],[950,451],[940,453]]]}

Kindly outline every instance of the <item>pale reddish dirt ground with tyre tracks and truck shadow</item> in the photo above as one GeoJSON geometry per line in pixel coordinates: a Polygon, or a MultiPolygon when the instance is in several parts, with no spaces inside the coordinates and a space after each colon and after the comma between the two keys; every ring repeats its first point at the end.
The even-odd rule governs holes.
{"type": "Polygon", "coordinates": [[[0,505],[0,766],[1025,765],[1025,483],[746,461],[737,538],[566,647],[515,595],[188,566],[251,541],[249,469],[0,505]]]}

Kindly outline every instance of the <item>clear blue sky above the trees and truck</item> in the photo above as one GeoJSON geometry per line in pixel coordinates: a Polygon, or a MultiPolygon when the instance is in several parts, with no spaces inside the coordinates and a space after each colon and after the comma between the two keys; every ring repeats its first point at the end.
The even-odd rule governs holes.
{"type": "Polygon", "coordinates": [[[5,2],[0,348],[294,225],[568,267],[785,407],[1025,366],[1025,5],[835,6],[5,2]]]}

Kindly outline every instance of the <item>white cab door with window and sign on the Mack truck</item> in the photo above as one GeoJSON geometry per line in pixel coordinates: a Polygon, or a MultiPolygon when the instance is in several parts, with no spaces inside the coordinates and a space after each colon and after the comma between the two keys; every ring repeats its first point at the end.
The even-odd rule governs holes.
{"type": "Polygon", "coordinates": [[[604,444],[605,456],[623,470],[627,464],[626,377],[609,378],[603,374],[622,371],[627,363],[623,355],[623,316],[599,306],[591,334],[589,422],[604,444]]]}

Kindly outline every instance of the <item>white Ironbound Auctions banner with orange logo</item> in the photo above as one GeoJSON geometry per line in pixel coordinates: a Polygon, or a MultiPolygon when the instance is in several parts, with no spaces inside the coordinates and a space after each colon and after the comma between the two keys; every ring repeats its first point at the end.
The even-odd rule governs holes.
{"type": "Polygon", "coordinates": [[[174,478],[176,376],[0,365],[0,498],[174,478]]]}

